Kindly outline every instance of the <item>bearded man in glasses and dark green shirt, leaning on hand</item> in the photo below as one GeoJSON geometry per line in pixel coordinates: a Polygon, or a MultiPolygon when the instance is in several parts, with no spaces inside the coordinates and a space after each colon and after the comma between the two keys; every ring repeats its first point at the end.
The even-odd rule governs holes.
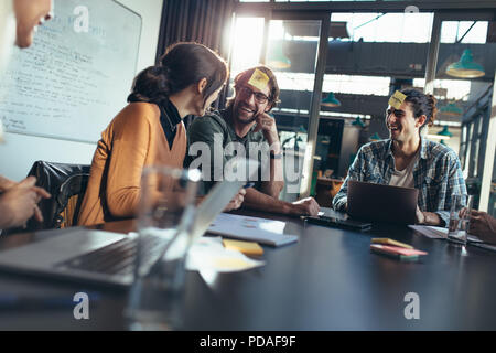
{"type": "Polygon", "coordinates": [[[211,176],[205,183],[209,189],[225,176],[223,168],[228,159],[240,151],[245,158],[256,154],[260,162],[258,179],[247,189],[242,206],[282,214],[316,215],[320,207],[312,197],[293,203],[279,200],[284,182],[281,143],[276,120],[269,115],[279,99],[279,86],[272,71],[266,66],[246,69],[235,77],[234,88],[235,96],[228,99],[226,109],[193,120],[187,130],[190,158],[186,164],[200,167],[192,160],[192,156],[197,154],[195,143],[207,146],[212,172],[204,170],[204,176],[211,176]],[[234,150],[226,153],[229,149],[236,153],[234,150]]]}

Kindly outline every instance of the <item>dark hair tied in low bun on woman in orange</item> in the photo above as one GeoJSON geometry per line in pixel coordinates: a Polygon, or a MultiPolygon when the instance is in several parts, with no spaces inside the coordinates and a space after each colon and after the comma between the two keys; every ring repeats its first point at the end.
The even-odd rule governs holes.
{"type": "Polygon", "coordinates": [[[171,45],[160,63],[138,74],[128,101],[160,103],[192,84],[206,78],[204,101],[227,79],[226,62],[203,44],[176,43],[171,45]]]}

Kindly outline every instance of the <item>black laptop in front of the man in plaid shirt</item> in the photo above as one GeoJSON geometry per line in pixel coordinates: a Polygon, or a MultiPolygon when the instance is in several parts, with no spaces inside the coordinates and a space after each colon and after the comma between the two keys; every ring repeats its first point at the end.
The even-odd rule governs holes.
{"type": "Polygon", "coordinates": [[[354,220],[414,224],[419,191],[348,180],[347,214],[354,220]]]}

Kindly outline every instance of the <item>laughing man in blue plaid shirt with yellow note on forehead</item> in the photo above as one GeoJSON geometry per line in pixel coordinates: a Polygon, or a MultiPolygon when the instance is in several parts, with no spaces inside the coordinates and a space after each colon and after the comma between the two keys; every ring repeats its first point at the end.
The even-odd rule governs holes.
{"type": "Polygon", "coordinates": [[[435,98],[416,89],[397,90],[389,99],[389,139],[364,145],[349,168],[333,207],[347,208],[347,182],[357,180],[419,190],[418,224],[446,226],[453,194],[466,195],[456,153],[421,136],[435,120],[435,98]]]}

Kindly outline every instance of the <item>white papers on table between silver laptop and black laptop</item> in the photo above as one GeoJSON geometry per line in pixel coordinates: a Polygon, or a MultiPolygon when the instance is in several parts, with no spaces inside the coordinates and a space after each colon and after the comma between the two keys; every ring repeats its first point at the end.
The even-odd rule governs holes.
{"type": "Polygon", "coordinates": [[[285,222],[281,221],[222,213],[207,232],[271,246],[298,242],[296,235],[283,234],[284,227],[285,222]]]}

